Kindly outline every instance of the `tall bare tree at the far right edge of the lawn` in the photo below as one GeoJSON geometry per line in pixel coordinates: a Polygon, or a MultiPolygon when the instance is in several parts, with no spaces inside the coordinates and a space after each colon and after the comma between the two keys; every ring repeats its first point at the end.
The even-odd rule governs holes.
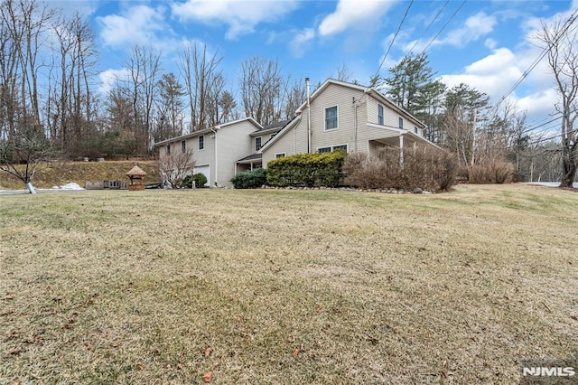
{"type": "Polygon", "coordinates": [[[562,146],[562,178],[560,187],[572,187],[578,166],[578,134],[574,123],[578,117],[578,31],[570,26],[578,16],[575,13],[563,22],[558,19],[542,29],[537,40],[545,44],[548,64],[555,77],[560,101],[555,105],[562,115],[560,139],[562,146]]]}

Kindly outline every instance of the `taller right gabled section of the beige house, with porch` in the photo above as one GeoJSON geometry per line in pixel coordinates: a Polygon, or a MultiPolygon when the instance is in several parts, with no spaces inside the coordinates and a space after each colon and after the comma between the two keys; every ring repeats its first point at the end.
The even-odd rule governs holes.
{"type": "Polygon", "coordinates": [[[302,153],[343,149],[371,153],[381,146],[435,146],[424,123],[378,90],[326,80],[297,109],[297,116],[261,147],[262,164],[302,153]]]}

